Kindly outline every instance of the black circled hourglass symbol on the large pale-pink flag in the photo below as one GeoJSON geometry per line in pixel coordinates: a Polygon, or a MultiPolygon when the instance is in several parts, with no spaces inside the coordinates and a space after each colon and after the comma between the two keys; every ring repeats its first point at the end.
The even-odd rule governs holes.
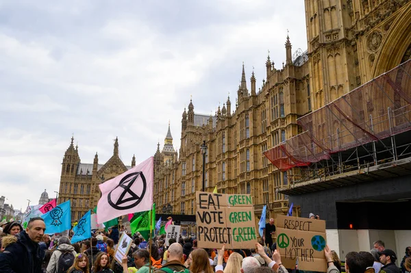
{"type": "Polygon", "coordinates": [[[119,185],[108,194],[108,203],[114,209],[131,209],[140,204],[146,190],[147,181],[144,174],[142,172],[132,172],[123,177],[119,185]]]}

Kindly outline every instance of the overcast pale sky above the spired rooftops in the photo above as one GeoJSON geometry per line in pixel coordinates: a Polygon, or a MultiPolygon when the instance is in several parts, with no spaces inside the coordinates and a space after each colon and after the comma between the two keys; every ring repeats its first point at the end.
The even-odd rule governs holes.
{"type": "Polygon", "coordinates": [[[268,50],[275,67],[307,48],[303,1],[0,0],[0,196],[16,209],[55,196],[74,134],[83,163],[113,153],[131,164],[164,143],[179,148],[190,102],[210,114],[245,63],[257,88],[268,50]]]}

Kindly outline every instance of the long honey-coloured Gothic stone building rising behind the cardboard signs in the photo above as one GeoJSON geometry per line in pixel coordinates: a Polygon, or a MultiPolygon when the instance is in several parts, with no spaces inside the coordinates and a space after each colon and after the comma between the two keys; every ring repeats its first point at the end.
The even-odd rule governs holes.
{"type": "MultiPolygon", "coordinates": [[[[257,216],[263,205],[269,217],[286,213],[288,187],[296,170],[281,172],[264,158],[267,151],[301,133],[297,118],[320,109],[411,55],[409,0],[305,0],[308,51],[275,67],[268,57],[263,85],[244,68],[238,103],[227,99],[215,116],[195,114],[190,101],[182,115],[179,157],[155,154],[155,203],[158,212],[195,213],[195,191],[202,187],[200,146],[206,141],[206,187],[211,192],[253,196],[257,216]]],[[[293,215],[299,215],[295,207],[293,215]]]]}

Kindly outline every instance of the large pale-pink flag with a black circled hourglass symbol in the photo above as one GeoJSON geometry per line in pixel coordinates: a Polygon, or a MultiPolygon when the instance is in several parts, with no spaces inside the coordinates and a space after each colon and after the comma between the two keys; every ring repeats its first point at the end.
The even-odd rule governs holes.
{"type": "Polygon", "coordinates": [[[153,157],[99,185],[101,198],[97,204],[97,223],[119,216],[149,211],[153,205],[153,157]]]}

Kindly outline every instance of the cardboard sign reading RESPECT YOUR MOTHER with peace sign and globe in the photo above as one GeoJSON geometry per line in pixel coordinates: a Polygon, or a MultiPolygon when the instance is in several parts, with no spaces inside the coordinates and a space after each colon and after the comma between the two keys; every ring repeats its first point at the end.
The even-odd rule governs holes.
{"type": "Polygon", "coordinates": [[[277,250],[286,268],[327,272],[325,221],[277,215],[277,250]]]}

